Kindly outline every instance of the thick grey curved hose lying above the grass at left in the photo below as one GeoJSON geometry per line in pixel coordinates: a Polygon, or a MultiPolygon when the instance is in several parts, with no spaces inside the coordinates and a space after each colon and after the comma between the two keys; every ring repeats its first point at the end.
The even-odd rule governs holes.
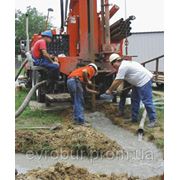
{"type": "Polygon", "coordinates": [[[31,88],[31,90],[27,94],[26,98],[24,99],[23,103],[21,104],[19,109],[16,111],[15,118],[17,118],[25,110],[25,108],[29,104],[29,101],[31,100],[31,97],[33,96],[36,89],[46,82],[47,82],[47,80],[41,81],[41,82],[37,83],[34,87],[31,88]]]}

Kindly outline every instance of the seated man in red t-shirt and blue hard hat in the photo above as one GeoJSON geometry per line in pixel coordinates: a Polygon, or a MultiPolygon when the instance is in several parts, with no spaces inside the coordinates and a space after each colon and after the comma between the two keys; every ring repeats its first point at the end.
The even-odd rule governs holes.
{"type": "Polygon", "coordinates": [[[48,69],[51,80],[59,79],[58,58],[47,52],[47,43],[52,41],[52,32],[50,30],[41,33],[42,38],[37,40],[31,49],[34,65],[42,66],[48,69]]]}

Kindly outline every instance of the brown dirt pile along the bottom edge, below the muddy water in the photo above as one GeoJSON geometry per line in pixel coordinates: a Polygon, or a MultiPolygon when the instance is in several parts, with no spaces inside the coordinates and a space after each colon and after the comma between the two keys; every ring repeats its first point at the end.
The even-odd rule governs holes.
{"type": "Polygon", "coordinates": [[[16,180],[139,180],[138,177],[128,177],[127,174],[110,176],[105,174],[92,174],[84,168],[74,165],[57,163],[48,169],[31,170],[26,174],[16,176],[16,180]]]}

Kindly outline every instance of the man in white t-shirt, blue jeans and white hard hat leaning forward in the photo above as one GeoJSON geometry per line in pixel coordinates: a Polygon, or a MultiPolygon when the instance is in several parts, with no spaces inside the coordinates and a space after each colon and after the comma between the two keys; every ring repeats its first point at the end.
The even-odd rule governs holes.
{"type": "Polygon", "coordinates": [[[120,55],[113,53],[109,57],[111,65],[117,70],[116,78],[106,91],[111,94],[123,80],[129,82],[132,87],[131,104],[132,104],[132,122],[138,121],[140,101],[145,105],[149,123],[148,127],[153,128],[156,124],[155,106],[152,100],[152,78],[153,74],[135,61],[125,61],[120,55]]]}

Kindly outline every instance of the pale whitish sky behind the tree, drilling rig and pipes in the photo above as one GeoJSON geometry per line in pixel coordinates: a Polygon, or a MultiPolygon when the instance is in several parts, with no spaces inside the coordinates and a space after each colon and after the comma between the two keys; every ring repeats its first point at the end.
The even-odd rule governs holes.
{"type": "MultiPolygon", "coordinates": [[[[16,0],[15,8],[23,12],[26,11],[27,6],[36,7],[39,12],[47,14],[48,8],[53,8],[51,12],[53,25],[59,27],[60,25],[60,0],[16,0]]],[[[100,0],[98,2],[98,9],[100,9],[100,0]]],[[[125,17],[125,0],[110,0],[110,3],[116,4],[120,10],[114,15],[111,23],[115,22],[121,17],[125,17]]],[[[163,0],[126,0],[127,16],[135,15],[136,20],[132,23],[132,31],[162,31],[163,27],[163,0]]]]}

